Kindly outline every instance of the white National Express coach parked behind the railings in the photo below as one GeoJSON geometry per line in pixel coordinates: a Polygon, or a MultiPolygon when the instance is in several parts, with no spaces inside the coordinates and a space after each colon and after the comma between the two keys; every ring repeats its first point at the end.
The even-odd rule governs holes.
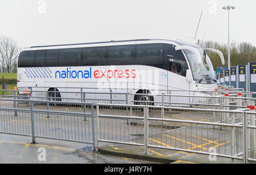
{"type": "MultiPolygon", "coordinates": [[[[216,49],[180,40],[143,39],[46,45],[24,49],[18,58],[18,87],[83,87],[90,91],[129,92],[135,100],[154,101],[142,94],[167,90],[214,90],[217,81],[206,52],[216,49]]],[[[61,90],[63,91],[63,89],[61,90]]],[[[173,94],[173,93],[172,93],[173,94]]],[[[57,94],[61,97],[61,93],[57,94]]],[[[52,98],[54,99],[54,98],[52,98]]]]}

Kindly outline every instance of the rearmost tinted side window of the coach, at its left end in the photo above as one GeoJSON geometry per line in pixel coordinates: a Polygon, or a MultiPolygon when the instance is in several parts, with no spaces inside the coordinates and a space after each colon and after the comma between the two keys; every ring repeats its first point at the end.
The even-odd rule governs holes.
{"type": "Polygon", "coordinates": [[[21,52],[19,55],[18,66],[28,66],[33,67],[35,66],[35,51],[24,51],[21,52]]]}

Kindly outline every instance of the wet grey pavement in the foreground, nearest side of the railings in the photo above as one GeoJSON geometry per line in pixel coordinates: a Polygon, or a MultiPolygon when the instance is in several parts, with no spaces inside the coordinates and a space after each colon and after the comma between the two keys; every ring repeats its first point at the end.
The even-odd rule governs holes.
{"type": "Polygon", "coordinates": [[[84,144],[0,134],[0,164],[151,164],[152,161],[102,155],[90,151],[84,144]],[[14,141],[15,140],[15,141],[14,141]],[[59,145],[59,146],[57,146],[59,145]],[[66,147],[64,147],[66,146],[66,147]],[[46,153],[44,161],[43,153],[46,153]]]}

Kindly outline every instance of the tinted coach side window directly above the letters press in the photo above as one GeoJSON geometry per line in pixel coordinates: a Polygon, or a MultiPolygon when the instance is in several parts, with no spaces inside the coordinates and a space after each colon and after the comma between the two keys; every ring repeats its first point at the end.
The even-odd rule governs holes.
{"type": "Polygon", "coordinates": [[[108,48],[109,65],[131,65],[133,64],[132,45],[113,46],[108,48]]]}

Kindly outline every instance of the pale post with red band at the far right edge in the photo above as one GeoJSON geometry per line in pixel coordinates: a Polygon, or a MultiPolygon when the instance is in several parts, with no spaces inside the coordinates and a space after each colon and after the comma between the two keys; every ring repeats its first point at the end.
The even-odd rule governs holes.
{"type": "MultiPolygon", "coordinates": [[[[255,102],[248,102],[248,108],[250,108],[251,112],[255,112],[255,102]]],[[[250,126],[255,126],[255,115],[249,115],[250,126]]],[[[256,158],[256,130],[250,129],[250,158],[256,158]]]]}

